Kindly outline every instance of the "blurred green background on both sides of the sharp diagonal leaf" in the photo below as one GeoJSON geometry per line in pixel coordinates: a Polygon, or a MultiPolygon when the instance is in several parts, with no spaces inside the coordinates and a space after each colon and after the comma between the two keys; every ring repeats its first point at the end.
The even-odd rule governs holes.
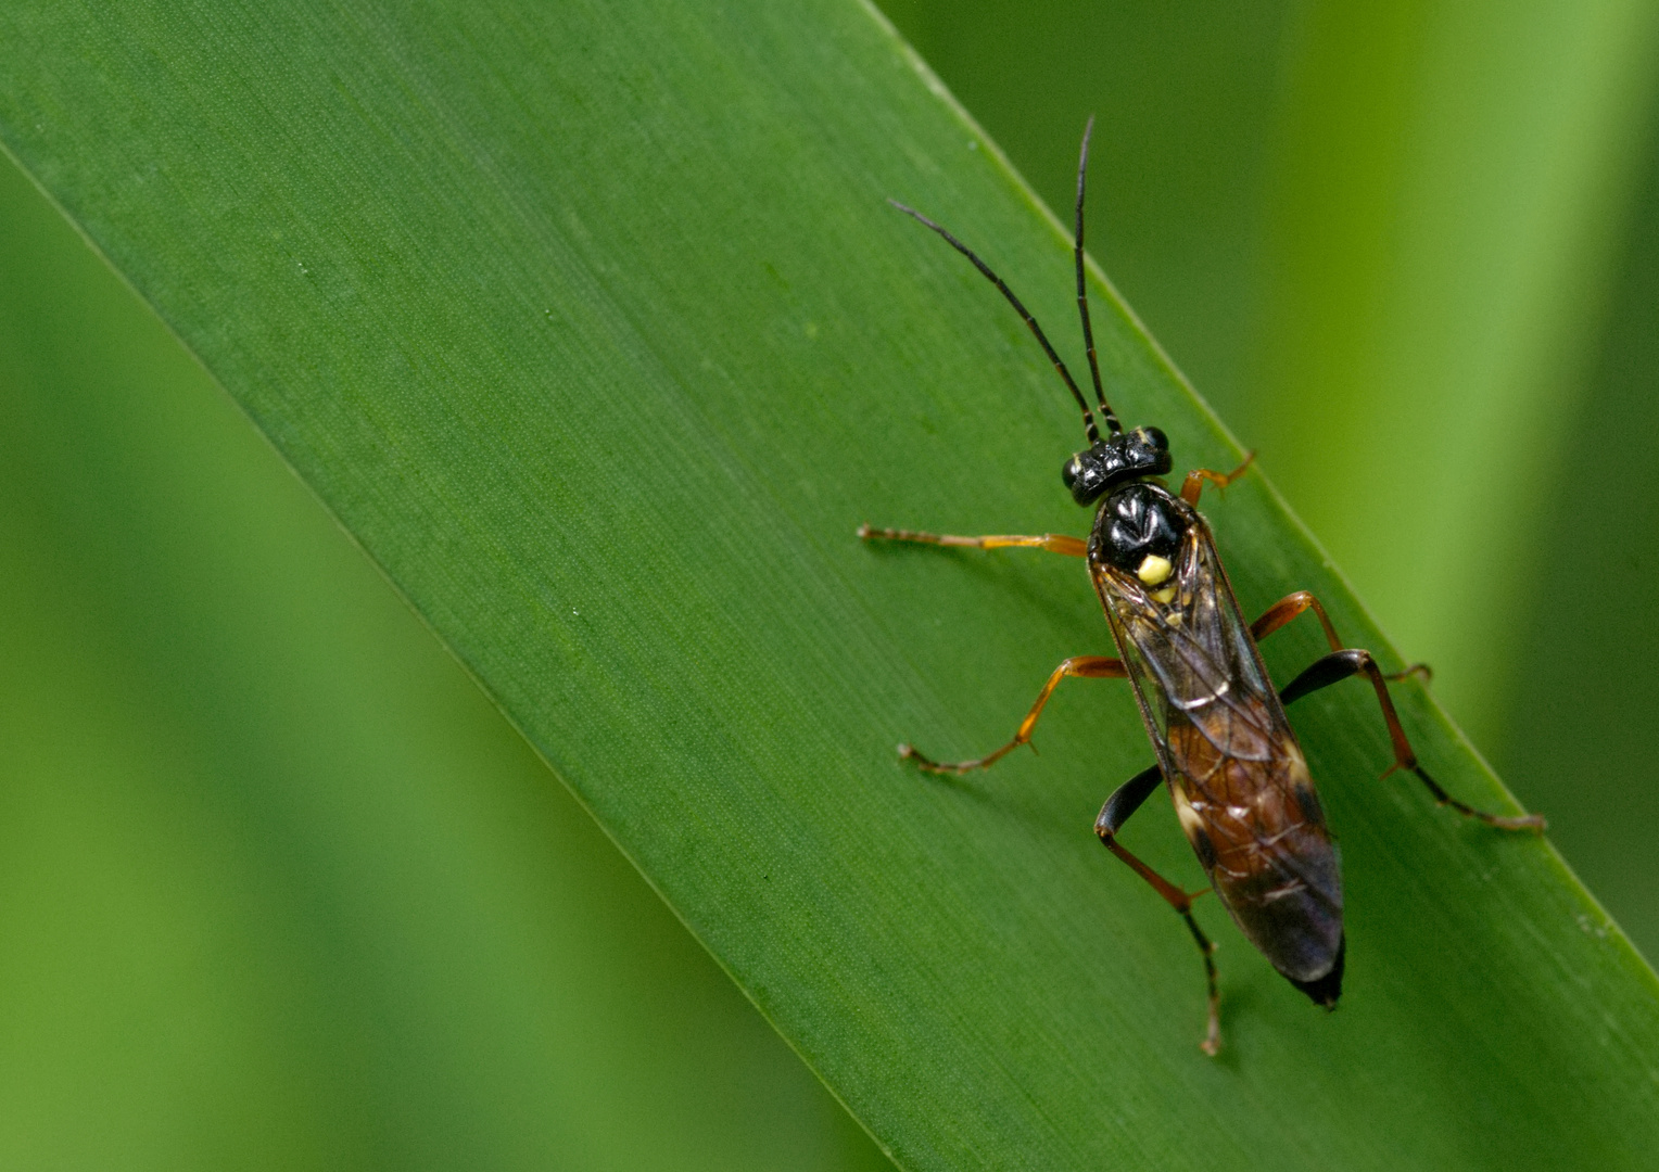
{"type": "MultiPolygon", "coordinates": [[[[1659,955],[1656,7],[888,10],[1659,955]]],[[[0,274],[0,1162],[883,1167],[10,167],[0,274]]]]}

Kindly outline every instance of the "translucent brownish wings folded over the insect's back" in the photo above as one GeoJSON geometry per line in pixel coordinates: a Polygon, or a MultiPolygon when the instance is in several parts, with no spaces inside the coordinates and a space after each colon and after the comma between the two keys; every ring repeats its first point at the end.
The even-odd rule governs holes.
{"type": "Polygon", "coordinates": [[[1342,947],[1335,847],[1208,525],[1183,511],[1191,524],[1156,593],[1092,559],[1095,587],[1216,895],[1274,968],[1314,981],[1342,947]]]}

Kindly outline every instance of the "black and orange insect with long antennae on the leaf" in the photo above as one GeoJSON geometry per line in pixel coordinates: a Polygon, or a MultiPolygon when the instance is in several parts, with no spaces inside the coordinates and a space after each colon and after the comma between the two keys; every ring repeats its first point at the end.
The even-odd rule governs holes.
{"type": "Polygon", "coordinates": [[[1224,489],[1246,472],[1251,458],[1224,474],[1208,467],[1191,471],[1181,482],[1181,491],[1170,492],[1161,477],[1175,464],[1165,433],[1158,428],[1125,431],[1107,404],[1083,280],[1083,191],[1092,133],[1093,119],[1083,131],[1077,164],[1073,257],[1083,346],[1100,419],[1107,426],[1105,438],[1100,436],[1095,413],[1072,373],[1014,290],[944,227],[889,201],[944,237],[997,287],[1030,327],[1082,408],[1088,448],[1072,456],[1060,476],[1078,506],[1095,507],[1088,539],[1057,534],[956,537],[869,525],[861,525],[858,535],[864,540],[972,549],[1027,547],[1085,559],[1118,655],[1065,660],[1037,693],[1037,701],[1014,738],[982,758],[946,764],[922,756],[909,744],[899,746],[899,756],[936,774],[985,769],[1030,743],[1044,705],[1062,680],[1128,680],[1156,763],[1130,777],[1107,799],[1095,819],[1095,834],[1107,850],[1151,884],[1193,933],[1204,961],[1209,995],[1201,1046],[1204,1053],[1216,1054],[1221,1048],[1221,1019],[1214,945],[1193,918],[1193,900],[1204,892],[1181,890],[1117,839],[1128,817],[1160,782],[1170,789],[1181,829],[1209,877],[1209,890],[1228,915],[1291,985],[1327,1010],[1335,1008],[1342,993],[1342,875],[1307,761],[1284,714],[1286,705],[1349,676],[1364,675],[1377,693],[1382,719],[1394,743],[1394,766],[1384,777],[1395,771],[1412,772],[1438,804],[1503,831],[1541,832],[1545,819],[1536,814],[1500,817],[1465,806],[1417,761],[1394,709],[1387,681],[1412,671],[1427,673],[1427,668],[1418,665],[1394,676],[1384,675],[1369,651],[1342,645],[1326,608],[1306,590],[1274,603],[1254,623],[1244,622],[1216,554],[1209,522],[1196,506],[1204,484],[1224,489]],[[1319,620],[1331,653],[1286,688],[1274,690],[1258,642],[1307,610],[1319,620]]]}

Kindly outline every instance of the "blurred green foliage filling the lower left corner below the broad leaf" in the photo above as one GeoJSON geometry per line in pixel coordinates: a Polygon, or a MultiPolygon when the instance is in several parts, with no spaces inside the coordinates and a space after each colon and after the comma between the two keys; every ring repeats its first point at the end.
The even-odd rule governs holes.
{"type": "Polygon", "coordinates": [[[886,1160],[0,167],[0,1165],[886,1160]]]}

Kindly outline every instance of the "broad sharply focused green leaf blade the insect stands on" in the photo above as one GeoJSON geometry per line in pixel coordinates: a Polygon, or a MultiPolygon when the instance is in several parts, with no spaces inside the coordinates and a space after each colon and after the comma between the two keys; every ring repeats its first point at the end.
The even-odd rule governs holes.
{"type": "MultiPolygon", "coordinates": [[[[984,748],[1107,635],[1077,565],[853,539],[866,519],[1082,524],[1055,477],[1077,421],[1029,337],[883,197],[982,244],[1057,335],[1063,235],[869,13],[41,7],[0,35],[35,50],[0,75],[5,146],[902,1167],[1636,1167],[1654,1149],[1652,973],[1546,844],[1379,784],[1360,685],[1297,714],[1342,834],[1347,1000],[1317,1015],[1223,930],[1219,1063],[1196,1049],[1190,940],[1088,834],[1146,763],[1120,686],[1062,693],[1040,759],[961,784],[898,766],[901,738],[984,748]]],[[[1236,448],[1095,293],[1120,411],[1226,466],[1236,448]]],[[[1211,516],[1248,610],[1309,587],[1387,655],[1264,477],[1211,516]]],[[[1269,663],[1316,648],[1291,632],[1269,663]]],[[[184,695],[229,703],[209,663],[187,661],[184,695]]],[[[1399,691],[1447,786],[1501,806],[1427,693],[1399,691]]],[[[294,784],[260,781],[274,802],[294,784]]],[[[332,794],[365,842],[400,817],[397,781],[332,794]]],[[[1166,811],[1128,842],[1196,885],[1166,811]]],[[[483,862],[443,857],[363,874],[448,880],[431,898],[481,882],[483,862]]],[[[368,918],[335,915],[324,952],[368,918]]],[[[451,947],[483,985],[478,947],[451,947]]],[[[479,1005],[463,1038],[514,1028],[479,1005]]],[[[552,1059],[523,1046],[536,1079],[552,1059]]],[[[499,1106],[489,1082],[428,1094],[456,1117],[456,1096],[499,1106]]],[[[403,1145],[387,1162],[428,1152],[430,1114],[373,1124],[403,1145]]]]}

